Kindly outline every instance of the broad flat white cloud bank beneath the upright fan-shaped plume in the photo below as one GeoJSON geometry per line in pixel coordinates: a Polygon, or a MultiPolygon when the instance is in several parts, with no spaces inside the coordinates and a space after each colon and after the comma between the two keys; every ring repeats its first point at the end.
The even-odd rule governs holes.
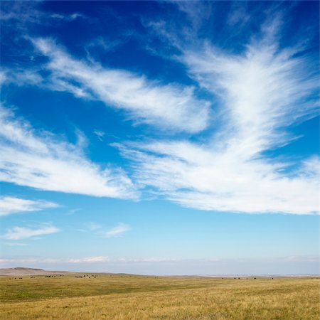
{"type": "MultiPolygon", "coordinates": [[[[277,170],[281,164],[243,161],[232,153],[188,142],[144,144],[141,148],[143,151],[135,152],[122,149],[138,163],[137,181],[183,206],[243,213],[308,214],[319,210],[319,174],[316,167],[314,171],[305,169],[310,167],[309,161],[292,176],[277,170]]],[[[311,161],[314,165],[316,160],[311,161]]]]}

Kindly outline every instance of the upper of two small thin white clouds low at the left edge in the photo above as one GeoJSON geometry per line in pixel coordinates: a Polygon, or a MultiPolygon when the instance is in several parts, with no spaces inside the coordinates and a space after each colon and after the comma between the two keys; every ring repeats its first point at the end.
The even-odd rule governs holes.
{"type": "Polygon", "coordinates": [[[57,208],[57,203],[52,203],[43,200],[28,200],[14,198],[10,196],[0,197],[0,216],[10,215],[11,213],[38,211],[45,208],[57,208]]]}

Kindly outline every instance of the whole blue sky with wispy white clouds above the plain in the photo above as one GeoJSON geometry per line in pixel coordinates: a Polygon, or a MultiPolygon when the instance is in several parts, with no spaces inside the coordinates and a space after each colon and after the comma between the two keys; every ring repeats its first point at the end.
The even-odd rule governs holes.
{"type": "Polygon", "coordinates": [[[0,267],[319,274],[318,1],[0,5],[0,267]]]}

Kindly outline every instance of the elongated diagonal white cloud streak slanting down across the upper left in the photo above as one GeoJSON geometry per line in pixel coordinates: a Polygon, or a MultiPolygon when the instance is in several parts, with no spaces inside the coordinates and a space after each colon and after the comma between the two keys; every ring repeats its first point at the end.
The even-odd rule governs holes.
{"type": "Polygon", "coordinates": [[[165,129],[199,132],[208,126],[208,102],[198,100],[193,87],[163,85],[144,75],[76,60],[48,39],[39,38],[33,43],[49,58],[45,68],[51,75],[46,81],[52,90],[101,100],[127,110],[136,122],[165,129]]]}

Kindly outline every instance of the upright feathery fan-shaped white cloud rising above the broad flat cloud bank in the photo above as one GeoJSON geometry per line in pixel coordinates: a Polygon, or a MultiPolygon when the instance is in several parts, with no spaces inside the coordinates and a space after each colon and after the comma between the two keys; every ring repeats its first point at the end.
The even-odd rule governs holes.
{"type": "Polygon", "coordinates": [[[316,100],[308,97],[317,78],[303,58],[286,50],[254,43],[245,55],[228,56],[207,46],[184,60],[191,75],[223,101],[222,142],[242,157],[281,146],[288,140],[285,127],[316,114],[316,100]]]}

